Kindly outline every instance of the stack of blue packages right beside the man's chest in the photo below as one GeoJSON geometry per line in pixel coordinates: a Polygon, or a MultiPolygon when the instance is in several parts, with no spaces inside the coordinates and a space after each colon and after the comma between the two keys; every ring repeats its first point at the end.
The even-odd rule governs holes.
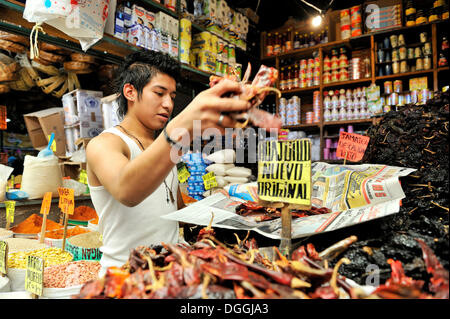
{"type": "Polygon", "coordinates": [[[203,156],[201,153],[189,153],[183,156],[183,162],[186,163],[191,175],[188,179],[188,195],[196,200],[202,200],[205,192],[202,176],[207,173],[203,156]]]}

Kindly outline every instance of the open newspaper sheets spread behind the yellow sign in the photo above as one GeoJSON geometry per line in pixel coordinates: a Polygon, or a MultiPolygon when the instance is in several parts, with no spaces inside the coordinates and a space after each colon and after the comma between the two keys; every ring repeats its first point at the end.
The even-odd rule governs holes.
{"type": "MultiPolygon", "coordinates": [[[[398,213],[405,197],[398,177],[413,171],[415,169],[386,165],[313,163],[312,205],[327,207],[332,212],[293,218],[292,238],[312,236],[398,213]]],[[[251,183],[243,189],[254,195],[255,187],[256,183],[251,183]]],[[[251,216],[237,215],[236,207],[245,200],[235,196],[236,192],[233,197],[225,192],[216,193],[163,218],[204,226],[213,218],[212,227],[253,230],[272,239],[281,239],[281,218],[256,221],[251,216]]]]}

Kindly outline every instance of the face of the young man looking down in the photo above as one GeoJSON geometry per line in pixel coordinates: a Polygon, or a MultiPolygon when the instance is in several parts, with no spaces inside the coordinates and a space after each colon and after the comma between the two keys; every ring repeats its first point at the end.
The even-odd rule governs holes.
{"type": "Polygon", "coordinates": [[[172,114],[175,95],[175,79],[158,73],[147,83],[141,97],[135,102],[136,117],[150,129],[162,129],[172,114]]]}

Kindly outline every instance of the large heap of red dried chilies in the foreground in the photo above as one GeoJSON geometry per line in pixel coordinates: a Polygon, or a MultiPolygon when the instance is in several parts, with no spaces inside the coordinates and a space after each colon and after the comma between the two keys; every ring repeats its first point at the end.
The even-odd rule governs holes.
{"type": "Polygon", "coordinates": [[[406,277],[399,263],[393,263],[392,278],[371,293],[350,284],[339,274],[340,266],[350,260],[341,258],[334,267],[329,265],[356,240],[350,236],[321,252],[312,244],[303,245],[290,259],[273,247],[269,258],[254,239],[237,237],[230,247],[208,226],[193,245],[137,247],[123,267],[108,268],[104,278],[84,284],[74,298],[448,298],[448,271],[423,242],[424,259],[433,275],[432,294],[421,290],[423,282],[406,277]]]}

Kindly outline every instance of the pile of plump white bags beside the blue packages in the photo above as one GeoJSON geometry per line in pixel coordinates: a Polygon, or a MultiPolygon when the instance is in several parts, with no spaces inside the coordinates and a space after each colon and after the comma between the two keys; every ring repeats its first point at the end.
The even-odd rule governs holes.
{"type": "Polygon", "coordinates": [[[213,164],[206,167],[207,172],[214,172],[217,187],[223,188],[229,184],[245,184],[249,182],[252,172],[249,168],[235,166],[236,152],[232,149],[217,151],[206,159],[213,164]]]}

